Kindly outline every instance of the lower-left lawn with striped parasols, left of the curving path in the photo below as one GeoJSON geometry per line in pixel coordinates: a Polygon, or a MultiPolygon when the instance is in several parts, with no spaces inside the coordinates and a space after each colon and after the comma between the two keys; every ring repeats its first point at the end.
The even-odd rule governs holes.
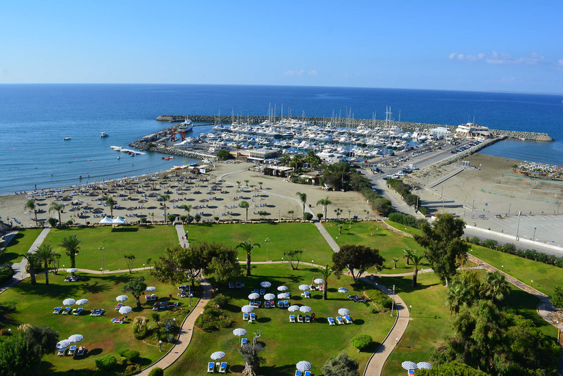
{"type": "MultiPolygon", "coordinates": [[[[37,285],[32,286],[30,280],[26,279],[0,295],[0,301],[15,301],[17,303],[17,312],[12,314],[12,321],[8,326],[11,327],[12,331],[16,330],[18,325],[27,322],[32,325],[52,327],[60,333],[60,339],[68,338],[72,334],[84,336],[84,339],[78,345],[87,347],[86,356],[81,358],[44,356],[41,370],[39,370],[40,375],[45,373],[56,375],[81,374],[82,372],[77,373],[77,370],[85,371],[87,368],[94,368],[94,361],[100,356],[113,355],[119,359],[118,352],[122,349],[139,351],[142,365],[148,365],[160,358],[162,353],[158,349],[156,338],[147,337],[144,341],[134,339],[131,320],[125,324],[114,324],[110,321],[111,318],[122,317],[114,309],[115,296],[123,294],[123,284],[134,276],[144,275],[149,286],[156,286],[155,293],[158,296],[165,296],[163,300],[169,300],[168,294],[172,294],[172,301],[180,301],[177,311],[167,310],[161,313],[161,321],[166,318],[177,318],[181,322],[186,313],[189,312],[188,301],[177,299],[176,287],[158,282],[151,275],[148,275],[148,272],[106,275],[78,273],[81,277],[80,282],[64,282],[65,275],[67,273],[49,275],[49,285],[45,285],[43,275],[39,275],[37,285]],[[83,306],[84,311],[87,312],[78,316],[53,315],[53,307],[63,306],[63,299],[66,298],[88,299],[89,302],[83,306]],[[94,308],[103,308],[106,312],[101,317],[92,317],[89,315],[89,310],[94,308]]],[[[129,299],[125,305],[135,308],[133,296],[127,295],[129,295],[129,299]]],[[[151,319],[151,313],[154,312],[151,309],[153,303],[145,303],[144,297],[141,297],[141,303],[143,303],[142,311],[132,311],[127,316],[132,319],[136,315],[144,315],[149,319],[148,325],[154,327],[155,323],[151,319]]],[[[72,308],[77,308],[77,306],[72,306],[72,308]]],[[[163,350],[169,348],[170,345],[163,344],[163,350]]]]}

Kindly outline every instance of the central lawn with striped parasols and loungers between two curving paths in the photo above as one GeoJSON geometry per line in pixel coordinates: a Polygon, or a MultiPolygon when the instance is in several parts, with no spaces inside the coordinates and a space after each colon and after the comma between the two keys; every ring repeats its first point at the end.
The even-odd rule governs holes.
{"type": "MultiPolygon", "coordinates": [[[[360,372],[371,353],[377,348],[373,344],[369,351],[358,353],[350,345],[350,339],[356,334],[370,334],[374,341],[381,342],[393,325],[393,318],[389,313],[371,313],[369,303],[354,303],[347,299],[347,294],[336,292],[338,287],[348,287],[350,280],[343,277],[329,278],[329,300],[322,300],[321,292],[313,292],[311,299],[303,299],[298,290],[299,284],[310,284],[313,277],[320,277],[315,268],[300,267],[291,270],[288,265],[254,265],[252,277],[243,277],[243,289],[222,289],[220,293],[232,296],[229,304],[229,316],[236,320],[234,327],[206,333],[194,330],[194,337],[187,351],[172,367],[165,370],[165,375],[203,375],[210,361],[210,354],[214,351],[224,351],[223,358],[229,364],[229,373],[241,375],[243,363],[238,351],[240,339],[232,334],[235,327],[242,327],[248,331],[247,339],[251,340],[253,333],[260,330],[262,336],[258,339],[264,344],[260,356],[264,358],[260,375],[293,375],[298,361],[310,361],[313,375],[321,375],[321,368],[329,358],[342,350],[360,362],[360,372]],[[276,287],[285,284],[291,293],[291,303],[308,305],[317,317],[315,323],[289,322],[289,312],[279,308],[256,308],[257,321],[253,324],[242,321],[241,306],[248,303],[251,288],[259,287],[260,282],[272,282],[267,292],[277,293],[276,287]],[[331,326],[327,317],[336,318],[339,308],[348,308],[354,320],[353,324],[331,326]]],[[[361,294],[361,292],[360,292],[361,294]]]]}

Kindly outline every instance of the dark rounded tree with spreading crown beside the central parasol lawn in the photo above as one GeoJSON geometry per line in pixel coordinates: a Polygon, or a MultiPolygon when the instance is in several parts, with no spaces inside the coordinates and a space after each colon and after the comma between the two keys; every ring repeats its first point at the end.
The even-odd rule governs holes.
{"type": "Polygon", "coordinates": [[[359,244],[344,244],[340,251],[332,254],[333,269],[336,276],[340,277],[346,268],[354,282],[358,282],[363,272],[376,266],[381,267],[384,258],[379,255],[379,250],[359,244]]]}

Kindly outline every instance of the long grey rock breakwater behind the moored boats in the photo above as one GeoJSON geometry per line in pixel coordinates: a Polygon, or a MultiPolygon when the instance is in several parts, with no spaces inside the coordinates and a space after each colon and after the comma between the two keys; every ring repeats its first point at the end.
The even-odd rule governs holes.
{"type": "MultiPolygon", "coordinates": [[[[158,121],[184,121],[186,118],[189,118],[191,121],[197,123],[215,123],[219,122],[221,124],[230,124],[232,123],[234,117],[232,115],[160,115],[156,120],[158,121]]],[[[296,117],[298,120],[307,121],[312,124],[322,124],[327,125],[331,123],[332,125],[336,125],[339,127],[358,127],[359,125],[366,125],[368,127],[385,127],[386,123],[385,120],[373,120],[373,119],[346,119],[346,118],[320,118],[320,117],[296,117]]],[[[241,118],[242,121],[245,121],[249,124],[260,124],[266,120],[268,120],[267,116],[243,116],[241,118]]],[[[417,128],[419,130],[429,130],[435,127],[446,127],[448,130],[453,131],[455,130],[454,125],[441,125],[441,124],[426,124],[426,123],[410,123],[410,122],[392,122],[393,125],[400,127],[402,130],[409,130],[413,131],[417,128]]],[[[543,142],[550,142],[553,141],[553,138],[547,133],[539,133],[539,132],[518,132],[513,130],[495,130],[491,129],[491,132],[495,134],[495,136],[505,136],[511,139],[526,139],[530,141],[543,141],[543,142]]]]}

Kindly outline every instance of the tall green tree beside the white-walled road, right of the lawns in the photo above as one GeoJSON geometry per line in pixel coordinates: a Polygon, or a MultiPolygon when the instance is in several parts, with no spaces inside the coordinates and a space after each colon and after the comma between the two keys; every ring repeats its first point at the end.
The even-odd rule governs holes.
{"type": "Polygon", "coordinates": [[[438,215],[434,225],[422,223],[424,234],[415,235],[417,243],[427,249],[424,256],[446,286],[467,258],[468,245],[462,240],[464,227],[462,219],[446,213],[438,215]]]}

